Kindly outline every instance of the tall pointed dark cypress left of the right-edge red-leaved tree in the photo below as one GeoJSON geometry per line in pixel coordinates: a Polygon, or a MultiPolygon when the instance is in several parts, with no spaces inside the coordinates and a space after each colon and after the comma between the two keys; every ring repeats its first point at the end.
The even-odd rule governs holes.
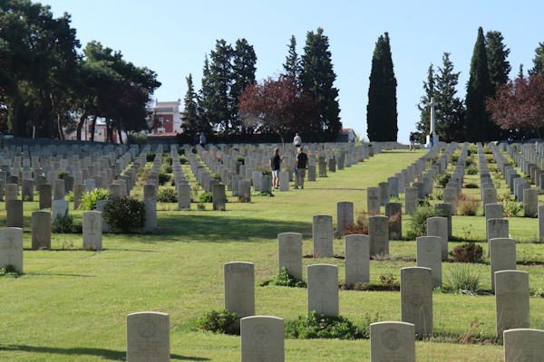
{"type": "Polygon", "coordinates": [[[465,140],[482,142],[498,138],[494,123],[485,110],[485,100],[492,95],[493,86],[488,67],[485,38],[480,27],[472,53],[471,77],[467,84],[465,140]]]}

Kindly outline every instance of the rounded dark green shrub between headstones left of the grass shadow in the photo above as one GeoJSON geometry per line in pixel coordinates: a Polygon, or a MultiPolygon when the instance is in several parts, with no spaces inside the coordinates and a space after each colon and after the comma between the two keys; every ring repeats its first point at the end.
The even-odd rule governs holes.
{"type": "Polygon", "coordinates": [[[103,218],[121,233],[130,233],[145,223],[145,206],[133,197],[121,197],[106,205],[103,218]]]}

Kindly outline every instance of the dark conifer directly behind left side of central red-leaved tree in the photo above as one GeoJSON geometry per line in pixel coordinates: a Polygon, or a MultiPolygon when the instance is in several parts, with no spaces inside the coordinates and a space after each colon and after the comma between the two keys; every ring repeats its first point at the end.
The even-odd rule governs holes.
{"type": "Polygon", "coordinates": [[[233,129],[249,130],[244,127],[242,120],[238,115],[238,100],[240,94],[242,94],[242,92],[248,88],[249,85],[255,82],[255,71],[257,71],[255,66],[256,63],[257,55],[253,50],[253,46],[249,45],[246,39],[238,39],[233,52],[232,87],[230,90],[230,98],[232,100],[231,118],[233,129]]]}

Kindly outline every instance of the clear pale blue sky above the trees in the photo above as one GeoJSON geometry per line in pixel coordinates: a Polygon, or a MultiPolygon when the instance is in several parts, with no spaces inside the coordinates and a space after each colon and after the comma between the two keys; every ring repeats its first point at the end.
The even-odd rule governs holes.
{"type": "MultiPolygon", "coordinates": [[[[158,74],[160,101],[183,100],[185,78],[192,73],[200,89],[204,56],[217,39],[234,44],[246,38],[257,53],[257,80],[282,71],[291,35],[303,53],[306,33],[322,27],[328,36],[340,117],[345,128],[366,138],[368,77],[378,37],[389,33],[397,79],[398,140],[419,120],[416,104],[432,63],[442,66],[451,52],[454,71],[461,71],[458,95],[464,97],[478,27],[500,31],[510,48],[515,78],[524,64],[532,68],[544,42],[544,1],[461,0],[44,0],[53,14],[72,14],[82,46],[92,40],[121,51],[125,60],[158,74]]],[[[183,105],[183,103],[182,103],[183,105]]]]}

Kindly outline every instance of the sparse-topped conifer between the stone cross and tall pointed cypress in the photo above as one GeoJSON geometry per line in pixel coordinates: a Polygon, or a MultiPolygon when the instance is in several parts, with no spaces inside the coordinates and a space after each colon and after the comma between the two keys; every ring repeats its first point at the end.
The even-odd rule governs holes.
{"type": "Polygon", "coordinates": [[[464,108],[456,97],[455,87],[459,83],[459,72],[453,72],[450,53],[442,55],[442,67],[438,67],[434,101],[436,134],[445,142],[461,141],[463,138],[464,108]]]}

